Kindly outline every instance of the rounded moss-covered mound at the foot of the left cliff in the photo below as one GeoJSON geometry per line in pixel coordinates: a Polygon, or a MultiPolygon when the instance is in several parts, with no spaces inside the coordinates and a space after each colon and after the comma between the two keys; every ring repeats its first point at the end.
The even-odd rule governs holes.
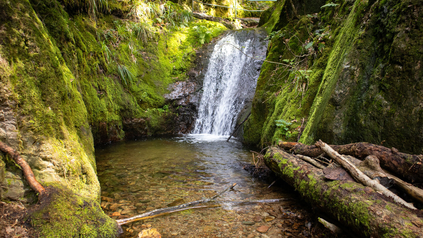
{"type": "Polygon", "coordinates": [[[73,194],[69,188],[50,187],[47,192],[29,218],[39,237],[112,238],[121,232],[96,199],[73,194]]]}

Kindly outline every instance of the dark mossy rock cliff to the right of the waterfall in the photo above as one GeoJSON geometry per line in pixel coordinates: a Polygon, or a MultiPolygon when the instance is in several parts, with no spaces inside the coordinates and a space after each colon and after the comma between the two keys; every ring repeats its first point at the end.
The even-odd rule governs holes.
{"type": "Polygon", "coordinates": [[[308,144],[367,141],[422,153],[422,1],[324,4],[281,0],[262,15],[267,60],[288,66],[263,64],[245,141],[300,133],[308,144]],[[283,135],[279,119],[293,121],[293,133],[283,135]]]}

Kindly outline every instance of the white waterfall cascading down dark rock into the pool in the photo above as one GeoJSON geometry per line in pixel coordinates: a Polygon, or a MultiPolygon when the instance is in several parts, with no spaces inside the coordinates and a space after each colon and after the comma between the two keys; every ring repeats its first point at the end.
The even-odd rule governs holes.
{"type": "Polygon", "coordinates": [[[251,103],[263,63],[247,55],[264,59],[266,48],[267,41],[256,29],[232,31],[216,43],[204,75],[193,133],[231,133],[239,113],[251,103]]]}

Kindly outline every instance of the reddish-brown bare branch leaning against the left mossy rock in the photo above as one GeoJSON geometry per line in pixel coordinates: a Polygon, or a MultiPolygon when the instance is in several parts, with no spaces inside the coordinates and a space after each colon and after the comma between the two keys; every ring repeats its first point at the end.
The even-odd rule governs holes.
{"type": "Polygon", "coordinates": [[[2,141],[0,141],[0,150],[10,155],[10,157],[15,161],[15,163],[21,167],[24,177],[27,180],[29,186],[32,188],[32,190],[36,191],[36,193],[38,193],[39,195],[43,195],[46,191],[45,188],[43,187],[43,185],[41,185],[41,183],[38,183],[34,176],[34,173],[32,172],[31,167],[21,157],[21,155],[19,155],[19,153],[16,152],[15,149],[8,146],[2,141]]]}

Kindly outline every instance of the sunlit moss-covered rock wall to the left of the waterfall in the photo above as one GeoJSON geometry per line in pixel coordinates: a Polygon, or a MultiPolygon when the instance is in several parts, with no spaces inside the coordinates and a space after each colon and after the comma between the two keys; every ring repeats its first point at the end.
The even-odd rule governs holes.
{"type": "MultiPolygon", "coordinates": [[[[41,236],[115,235],[98,203],[94,144],[121,140],[125,131],[176,132],[179,115],[163,95],[188,77],[201,47],[195,27],[211,37],[226,30],[171,2],[109,1],[98,11],[90,3],[0,1],[0,139],[55,187],[52,203],[32,217],[41,236]]],[[[7,156],[0,170],[2,199],[33,201],[7,156]]]]}

